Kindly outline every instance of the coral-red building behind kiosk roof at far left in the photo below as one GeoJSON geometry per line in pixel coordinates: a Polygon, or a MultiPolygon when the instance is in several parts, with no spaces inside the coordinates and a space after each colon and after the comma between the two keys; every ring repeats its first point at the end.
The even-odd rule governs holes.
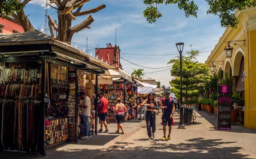
{"type": "Polygon", "coordinates": [[[11,18],[0,18],[0,33],[13,34],[23,33],[24,29],[11,18]]]}

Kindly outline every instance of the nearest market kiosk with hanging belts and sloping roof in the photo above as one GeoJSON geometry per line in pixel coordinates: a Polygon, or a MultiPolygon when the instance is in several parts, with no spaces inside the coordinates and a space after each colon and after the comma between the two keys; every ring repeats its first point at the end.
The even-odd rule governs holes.
{"type": "Polygon", "coordinates": [[[48,148],[77,143],[79,91],[89,91],[97,104],[92,82],[86,82],[91,90],[84,86],[84,70],[97,82],[107,69],[40,32],[0,36],[0,53],[0,149],[44,156],[48,148]]]}

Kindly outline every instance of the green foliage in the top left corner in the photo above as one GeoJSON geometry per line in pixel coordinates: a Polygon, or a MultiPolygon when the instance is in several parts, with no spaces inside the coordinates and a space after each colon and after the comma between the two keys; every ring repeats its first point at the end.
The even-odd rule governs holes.
{"type": "Polygon", "coordinates": [[[20,11],[24,4],[16,0],[0,0],[0,17],[9,17],[13,12],[20,11]]]}

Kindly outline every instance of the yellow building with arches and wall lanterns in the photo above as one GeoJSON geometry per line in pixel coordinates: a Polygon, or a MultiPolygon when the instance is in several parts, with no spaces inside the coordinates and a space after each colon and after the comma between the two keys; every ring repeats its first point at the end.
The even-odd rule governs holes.
{"type": "Polygon", "coordinates": [[[216,61],[216,71],[222,69],[234,77],[235,91],[245,100],[244,126],[256,128],[256,8],[236,11],[235,15],[240,22],[237,28],[225,29],[205,63],[210,66],[216,61]],[[224,51],[227,41],[233,47],[231,57],[224,51]]]}

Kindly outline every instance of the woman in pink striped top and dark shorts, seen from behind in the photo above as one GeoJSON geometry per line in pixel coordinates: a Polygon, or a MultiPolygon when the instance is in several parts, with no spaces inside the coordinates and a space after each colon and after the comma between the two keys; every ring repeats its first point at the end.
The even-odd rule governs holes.
{"type": "Polygon", "coordinates": [[[122,130],[121,134],[124,134],[124,128],[123,128],[123,121],[125,118],[124,113],[127,112],[127,109],[125,107],[125,105],[121,102],[121,98],[118,98],[116,100],[116,107],[114,109],[115,112],[115,116],[116,116],[116,120],[117,120],[117,130],[115,131],[116,133],[119,133],[119,129],[122,130]]]}

